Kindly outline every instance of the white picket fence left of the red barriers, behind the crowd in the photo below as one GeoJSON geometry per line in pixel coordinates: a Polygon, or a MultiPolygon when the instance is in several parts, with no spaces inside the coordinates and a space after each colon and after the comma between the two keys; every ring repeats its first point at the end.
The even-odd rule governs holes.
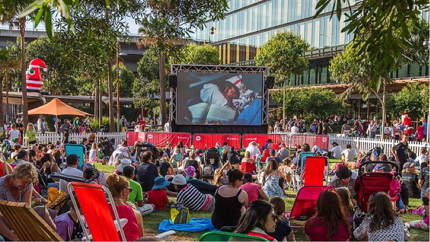
{"type": "MultiPolygon", "coordinates": [[[[70,134],[69,135],[69,141],[74,140],[76,143],[80,144],[82,143],[83,138],[88,139],[89,134],[70,134]]],[[[98,142],[100,137],[107,137],[108,139],[115,139],[115,147],[121,143],[122,140],[126,139],[126,133],[95,133],[95,140],[98,142]]],[[[60,141],[63,139],[63,135],[57,134],[57,133],[46,133],[46,134],[37,134],[37,139],[42,144],[48,144],[48,142],[52,142],[55,144],[55,142],[60,141]]],[[[24,138],[24,145],[26,146],[28,142],[24,138]]]]}

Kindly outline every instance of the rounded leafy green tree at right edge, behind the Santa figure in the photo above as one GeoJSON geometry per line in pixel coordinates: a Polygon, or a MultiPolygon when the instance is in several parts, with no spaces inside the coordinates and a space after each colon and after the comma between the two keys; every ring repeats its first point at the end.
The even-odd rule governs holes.
{"type": "Polygon", "coordinates": [[[407,112],[412,119],[423,117],[429,112],[429,85],[415,82],[391,94],[387,100],[390,114],[398,117],[407,112]]]}

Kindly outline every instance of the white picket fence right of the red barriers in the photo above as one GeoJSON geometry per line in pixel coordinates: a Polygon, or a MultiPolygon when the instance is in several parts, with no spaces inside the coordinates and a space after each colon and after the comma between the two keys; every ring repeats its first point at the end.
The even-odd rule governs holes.
{"type": "MultiPolygon", "coordinates": [[[[400,141],[397,140],[382,140],[379,138],[376,139],[370,139],[370,138],[360,138],[360,137],[338,137],[336,135],[331,135],[330,138],[330,144],[333,142],[336,142],[339,144],[340,147],[345,149],[347,144],[350,144],[352,149],[354,149],[356,152],[364,152],[367,153],[374,147],[382,147],[384,149],[385,154],[390,154],[390,149],[398,144],[400,141]]],[[[417,141],[409,141],[408,147],[412,151],[415,152],[415,154],[420,155],[421,148],[422,147],[429,147],[429,145],[426,142],[417,142],[417,141]]]]}

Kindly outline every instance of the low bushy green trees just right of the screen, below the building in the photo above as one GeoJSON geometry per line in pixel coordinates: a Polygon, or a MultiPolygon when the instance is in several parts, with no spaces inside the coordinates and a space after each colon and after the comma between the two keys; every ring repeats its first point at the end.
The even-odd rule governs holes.
{"type": "Polygon", "coordinates": [[[304,116],[308,121],[343,114],[345,105],[336,93],[323,88],[296,88],[283,91],[270,90],[270,97],[277,103],[285,100],[285,115],[304,116]]]}

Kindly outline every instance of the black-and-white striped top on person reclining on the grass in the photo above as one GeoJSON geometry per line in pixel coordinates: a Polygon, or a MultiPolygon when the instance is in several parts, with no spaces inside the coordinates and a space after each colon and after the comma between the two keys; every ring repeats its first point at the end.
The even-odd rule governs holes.
{"type": "Polygon", "coordinates": [[[199,192],[191,184],[187,184],[178,194],[177,202],[178,205],[183,205],[191,211],[199,211],[206,201],[206,195],[199,192]]]}

